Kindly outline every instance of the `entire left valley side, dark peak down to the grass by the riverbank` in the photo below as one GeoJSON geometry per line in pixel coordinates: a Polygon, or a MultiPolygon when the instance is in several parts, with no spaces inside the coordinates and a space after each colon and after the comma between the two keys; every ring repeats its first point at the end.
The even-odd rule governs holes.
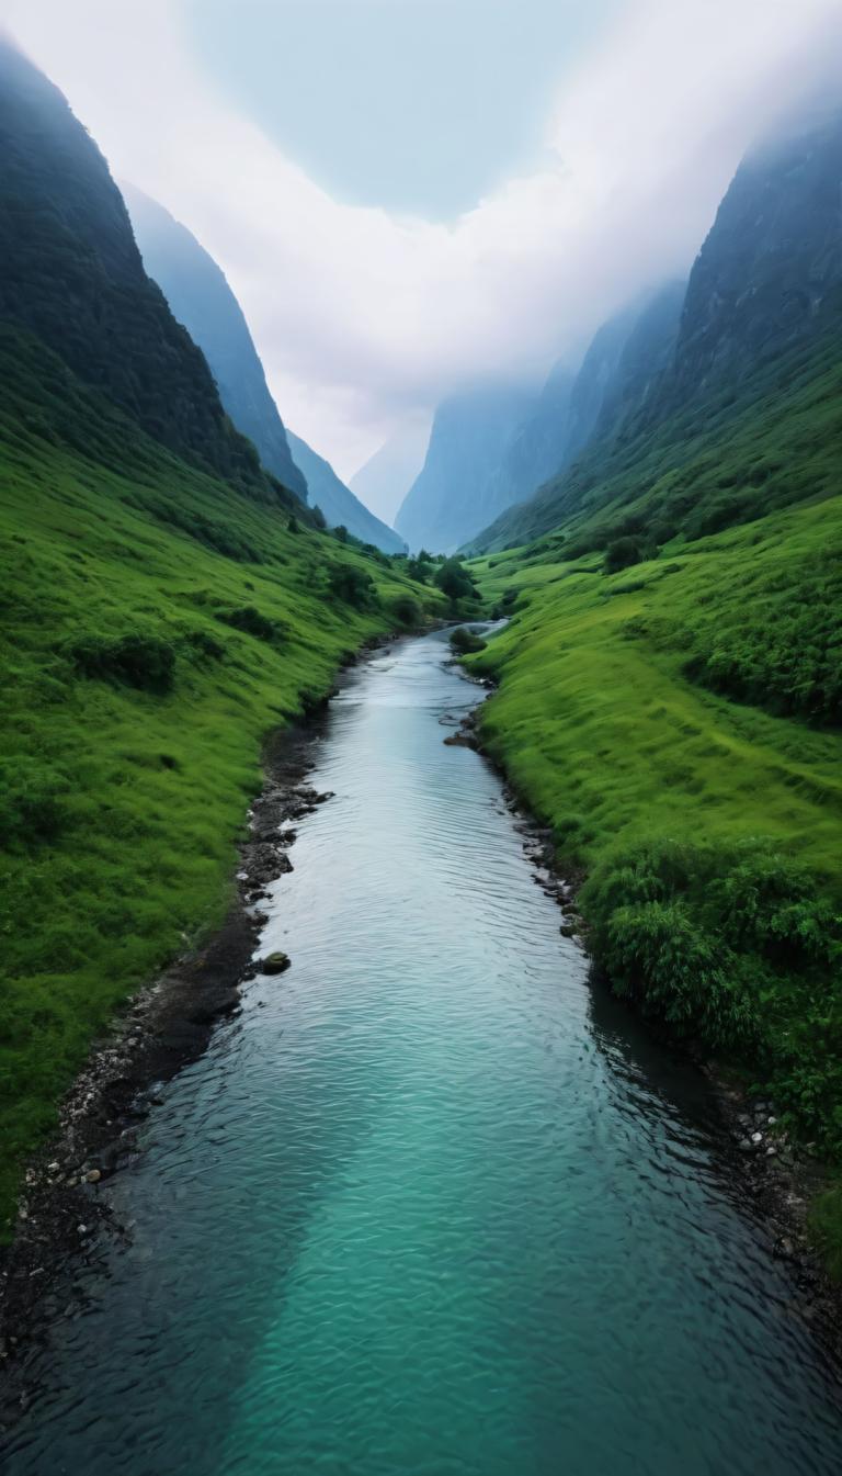
{"type": "MultiPolygon", "coordinates": [[[[22,65],[19,109],[0,103],[15,227],[0,285],[0,1240],[22,1157],[91,1038],[224,915],[267,734],[364,639],[444,610],[264,475],[143,275],[94,145],[22,65]],[[71,120],[69,143],[29,92],[71,120]],[[178,401],[162,419],[155,373],[178,401]],[[237,472],[245,447],[249,475],[208,469],[190,434],[214,450],[214,427],[221,463],[233,447],[237,472]],[[164,444],[184,437],[183,455],[164,444]]],[[[18,87],[16,61],[12,74],[18,87]]]]}

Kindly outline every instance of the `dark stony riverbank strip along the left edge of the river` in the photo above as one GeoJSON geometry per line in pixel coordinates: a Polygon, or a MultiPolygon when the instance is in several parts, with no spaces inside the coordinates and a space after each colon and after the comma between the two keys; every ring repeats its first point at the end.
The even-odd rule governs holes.
{"type": "MultiPolygon", "coordinates": [[[[370,638],[344,666],[394,639],[370,638]]],[[[139,1129],[159,1088],[202,1055],[217,1023],[237,1011],[242,984],[258,973],[254,952],[265,922],[265,889],[292,871],[296,822],[329,799],[305,784],[327,704],[329,697],[311,704],[305,717],[267,739],[264,782],[236,849],[224,921],[133,995],[63,1098],[56,1134],[27,1166],[15,1237],[0,1247],[0,1368],[25,1355],[38,1325],[55,1315],[59,1289],[66,1292],[96,1235],[122,1234],[100,1184],[136,1160],[139,1129]]]]}

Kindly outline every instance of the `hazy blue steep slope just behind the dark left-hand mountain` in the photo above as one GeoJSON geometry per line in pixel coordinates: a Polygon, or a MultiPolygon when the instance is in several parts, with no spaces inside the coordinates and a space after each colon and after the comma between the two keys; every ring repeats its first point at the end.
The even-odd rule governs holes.
{"type": "Polygon", "coordinates": [[[252,335],[224,272],[162,205],[133,186],[124,186],[124,195],[143,264],[205,354],[232,421],[254,441],[267,471],[305,502],[305,478],[292,459],[252,335]]]}

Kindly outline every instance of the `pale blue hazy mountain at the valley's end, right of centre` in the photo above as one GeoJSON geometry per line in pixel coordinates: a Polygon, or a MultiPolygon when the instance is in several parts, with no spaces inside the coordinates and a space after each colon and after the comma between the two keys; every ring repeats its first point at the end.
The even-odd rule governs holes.
{"type": "Polygon", "coordinates": [[[500,511],[493,478],[534,403],[528,390],[494,385],[439,404],[425,463],[395,518],[413,551],[450,554],[500,511]]]}

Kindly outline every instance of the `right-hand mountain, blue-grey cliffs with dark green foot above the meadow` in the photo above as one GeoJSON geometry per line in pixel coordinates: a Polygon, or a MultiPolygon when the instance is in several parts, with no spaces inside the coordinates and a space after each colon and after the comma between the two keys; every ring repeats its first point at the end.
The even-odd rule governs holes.
{"type": "Polygon", "coordinates": [[[594,375],[599,396],[588,390],[582,397],[582,431],[590,427],[590,438],[580,434],[580,455],[568,468],[482,530],[472,546],[523,543],[574,514],[587,520],[610,503],[634,509],[613,524],[606,515],[599,537],[631,520],[664,542],[678,530],[712,530],[827,493],[823,444],[805,455],[802,475],[793,478],[780,459],[783,450],[777,461],[752,453],[752,416],[782,390],[796,393],[811,379],[818,385],[836,362],[841,189],[839,109],[818,112],[810,124],[779,131],[752,151],[693,264],[678,322],[675,283],[643,313],[622,314],[597,334],[582,373],[606,335],[609,353],[603,341],[594,375]],[[712,450],[724,435],[734,446],[730,481],[721,471],[717,477],[712,450]],[[647,509],[637,508],[643,492],[647,509]]]}

